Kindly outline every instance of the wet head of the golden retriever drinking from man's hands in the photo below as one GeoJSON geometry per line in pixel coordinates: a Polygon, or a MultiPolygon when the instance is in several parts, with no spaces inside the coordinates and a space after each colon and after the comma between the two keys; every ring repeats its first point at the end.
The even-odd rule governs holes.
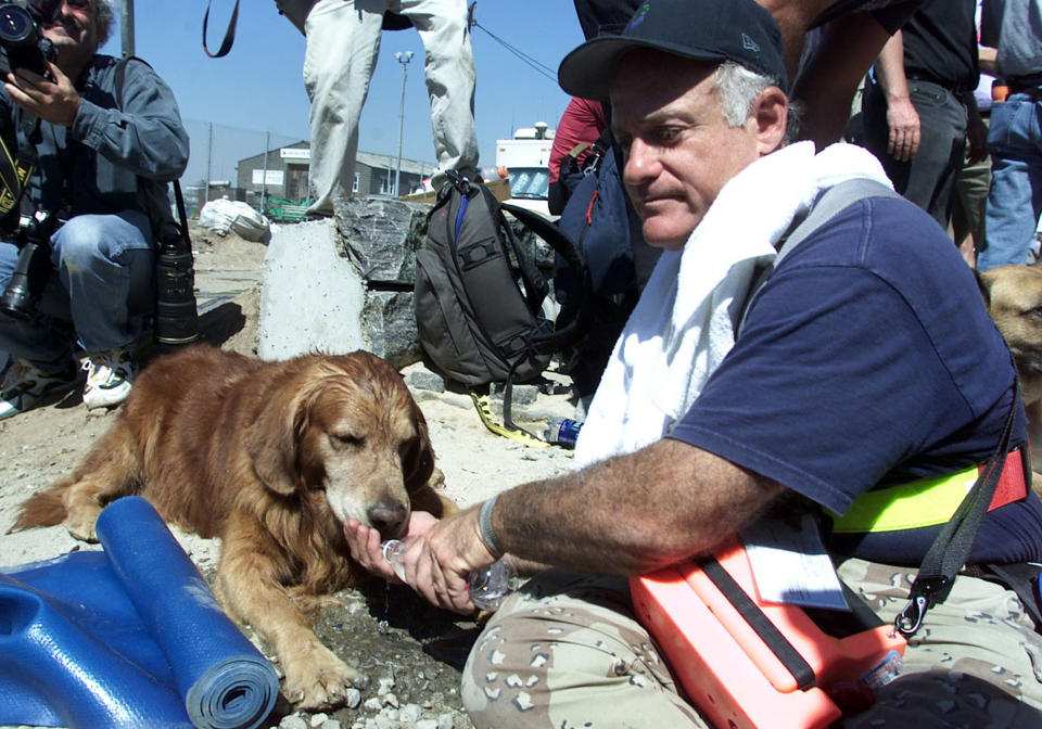
{"type": "Polygon", "coordinates": [[[293,361],[247,435],[254,473],[283,495],[325,490],[341,523],[403,534],[410,495],[435,471],[427,422],[402,376],[365,351],[293,361]]]}

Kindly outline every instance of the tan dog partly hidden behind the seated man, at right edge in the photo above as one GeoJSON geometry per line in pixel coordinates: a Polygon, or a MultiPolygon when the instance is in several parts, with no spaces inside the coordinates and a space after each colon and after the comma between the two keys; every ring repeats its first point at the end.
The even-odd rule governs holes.
{"type": "Polygon", "coordinates": [[[1042,491],[1042,268],[1000,266],[978,272],[988,314],[1009,345],[1028,414],[1033,488],[1042,491]]]}

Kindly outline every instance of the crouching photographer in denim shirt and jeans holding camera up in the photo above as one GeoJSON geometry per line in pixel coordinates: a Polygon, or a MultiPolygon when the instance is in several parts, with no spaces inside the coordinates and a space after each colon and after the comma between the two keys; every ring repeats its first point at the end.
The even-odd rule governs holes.
{"type": "Polygon", "coordinates": [[[137,372],[131,345],[155,306],[156,239],[174,225],[167,183],[183,172],[189,140],[173,92],[147,63],[97,53],[112,23],[109,0],[0,3],[13,72],[0,92],[10,152],[0,214],[14,221],[0,241],[0,291],[28,309],[0,307],[0,350],[15,360],[0,418],[72,389],[74,357],[87,371],[88,409],[125,400],[137,372]],[[20,207],[33,215],[27,225],[17,225],[20,207]],[[8,290],[34,236],[43,285],[14,295],[25,293],[8,290]]]}

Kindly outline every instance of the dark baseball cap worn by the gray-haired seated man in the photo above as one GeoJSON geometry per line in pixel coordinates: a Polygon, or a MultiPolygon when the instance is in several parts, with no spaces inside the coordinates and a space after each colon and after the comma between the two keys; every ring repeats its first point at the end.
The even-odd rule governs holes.
{"type": "Polygon", "coordinates": [[[754,0],[647,0],[622,33],[597,36],[566,55],[558,82],[573,97],[608,101],[620,59],[641,48],[697,61],[734,61],[787,88],[782,30],[754,0]]]}

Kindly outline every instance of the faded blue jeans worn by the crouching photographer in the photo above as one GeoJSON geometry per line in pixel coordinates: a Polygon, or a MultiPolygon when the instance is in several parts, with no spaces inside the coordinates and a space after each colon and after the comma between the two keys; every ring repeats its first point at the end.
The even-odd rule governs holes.
{"type": "MultiPolygon", "coordinates": [[[[68,328],[86,353],[115,349],[140,336],[155,307],[155,253],[141,213],[79,215],[50,240],[51,278],[38,315],[20,320],[0,314],[0,350],[38,366],[61,367],[72,351],[68,328]]],[[[0,242],[0,289],[18,258],[0,242]]]]}

